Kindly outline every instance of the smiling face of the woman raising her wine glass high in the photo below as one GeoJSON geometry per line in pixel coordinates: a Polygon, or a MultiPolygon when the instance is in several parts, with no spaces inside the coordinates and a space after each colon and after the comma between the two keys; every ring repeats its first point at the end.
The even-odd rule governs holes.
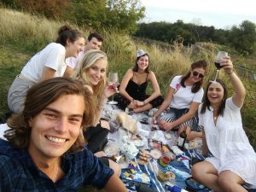
{"type": "Polygon", "coordinates": [[[210,84],[207,90],[207,97],[211,104],[222,102],[224,97],[224,88],[218,82],[210,84]]]}

